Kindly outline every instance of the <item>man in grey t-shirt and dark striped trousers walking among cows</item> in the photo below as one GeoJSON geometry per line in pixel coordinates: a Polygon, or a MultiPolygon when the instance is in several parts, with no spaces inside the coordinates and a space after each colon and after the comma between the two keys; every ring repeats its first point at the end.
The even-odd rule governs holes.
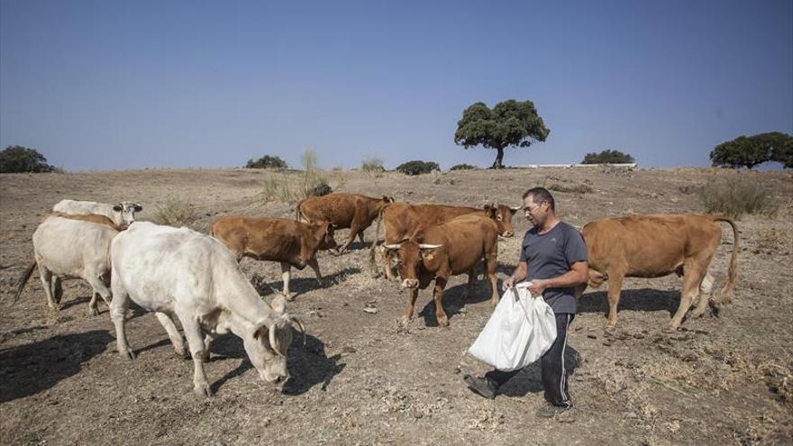
{"type": "MultiPolygon", "coordinates": [[[[556,315],[556,341],[542,355],[542,387],[546,405],[537,416],[551,418],[572,407],[567,386],[564,349],[567,331],[576,314],[576,287],[587,282],[587,246],[580,232],[556,217],[553,196],[543,187],[524,193],[524,214],[533,228],[526,232],[521,245],[520,262],[502,287],[528,278],[532,296],[542,296],[556,315]]],[[[496,397],[498,387],[520,370],[491,370],[484,377],[463,377],[469,388],[489,399],[496,397]]]]}

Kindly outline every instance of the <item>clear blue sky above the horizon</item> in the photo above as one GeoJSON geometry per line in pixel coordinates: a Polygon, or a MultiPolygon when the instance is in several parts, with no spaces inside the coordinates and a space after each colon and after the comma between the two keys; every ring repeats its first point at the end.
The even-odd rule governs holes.
{"type": "Polygon", "coordinates": [[[463,109],[531,99],[551,129],[507,165],[627,151],[706,166],[793,132],[793,2],[0,0],[0,146],[68,170],[489,166],[463,109]],[[549,5],[552,4],[552,5],[549,5]]]}

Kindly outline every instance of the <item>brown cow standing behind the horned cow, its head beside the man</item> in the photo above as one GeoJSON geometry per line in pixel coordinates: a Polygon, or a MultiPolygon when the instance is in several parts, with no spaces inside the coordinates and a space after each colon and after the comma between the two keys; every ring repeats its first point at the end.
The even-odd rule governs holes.
{"type": "MultiPolygon", "coordinates": [[[[518,209],[520,209],[520,206],[510,207],[507,205],[484,205],[480,208],[409,203],[387,205],[380,212],[378,224],[375,227],[375,242],[372,243],[369,251],[369,267],[373,271],[373,275],[377,276],[375,271],[375,245],[380,232],[380,223],[383,223],[386,227],[385,243],[394,244],[406,240],[415,231],[424,227],[446,223],[460,215],[476,214],[484,211],[484,214],[492,218],[497,224],[498,235],[509,238],[515,235],[515,229],[512,226],[512,216],[518,209]]],[[[384,250],[383,258],[383,269],[386,278],[391,280],[394,278],[391,251],[384,250]]]]}

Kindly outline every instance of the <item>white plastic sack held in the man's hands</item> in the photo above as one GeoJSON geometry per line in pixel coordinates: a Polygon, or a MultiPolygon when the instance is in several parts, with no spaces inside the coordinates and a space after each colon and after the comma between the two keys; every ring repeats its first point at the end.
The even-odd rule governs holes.
{"type": "Polygon", "coordinates": [[[507,289],[469,353],[499,370],[522,369],[551,348],[556,317],[542,297],[529,294],[529,283],[507,289]]]}

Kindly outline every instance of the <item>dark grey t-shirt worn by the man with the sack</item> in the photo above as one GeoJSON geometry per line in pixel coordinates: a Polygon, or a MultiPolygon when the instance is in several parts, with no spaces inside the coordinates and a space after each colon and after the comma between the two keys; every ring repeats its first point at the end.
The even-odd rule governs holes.
{"type": "MultiPolygon", "coordinates": [[[[559,222],[551,231],[537,233],[532,228],[524,235],[520,261],[526,262],[526,280],[557,278],[570,271],[573,263],[587,260],[587,245],[576,228],[559,222]]],[[[542,297],[555,314],[576,313],[575,287],[548,288],[542,297]]]]}

